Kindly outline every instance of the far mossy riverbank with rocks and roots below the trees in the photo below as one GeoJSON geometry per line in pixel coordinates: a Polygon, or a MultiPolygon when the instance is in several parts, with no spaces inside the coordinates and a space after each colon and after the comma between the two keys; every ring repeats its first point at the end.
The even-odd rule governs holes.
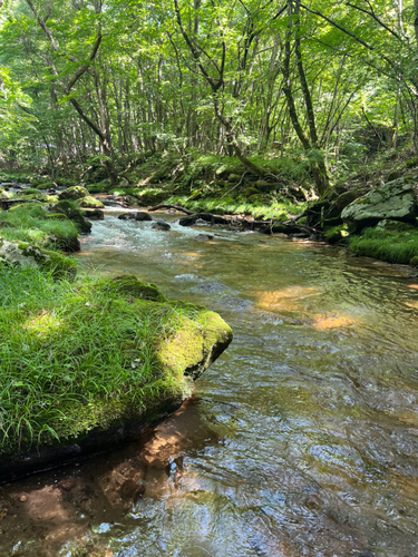
{"type": "MultiPolygon", "coordinates": [[[[393,154],[381,156],[356,175],[336,180],[321,199],[303,158],[274,154],[253,158],[263,178],[234,157],[145,153],[120,162],[117,185],[96,162],[81,172],[86,188],[78,204],[95,207],[91,195],[104,194],[125,207],[172,205],[191,212],[195,221],[203,215],[206,222],[231,223],[236,229],[322,240],[349,247],[354,255],[417,266],[418,158],[409,150],[399,152],[395,159],[393,154]]],[[[26,179],[35,186],[25,193],[32,201],[41,199],[46,187],[54,194],[79,183],[71,173],[55,182],[46,176],[26,179]]]]}

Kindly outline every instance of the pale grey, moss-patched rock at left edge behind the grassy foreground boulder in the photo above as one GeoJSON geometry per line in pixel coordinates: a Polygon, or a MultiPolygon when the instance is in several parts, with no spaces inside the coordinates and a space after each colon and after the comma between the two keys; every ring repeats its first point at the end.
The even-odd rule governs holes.
{"type": "Polygon", "coordinates": [[[76,262],[69,257],[65,257],[57,252],[41,250],[25,242],[9,242],[2,237],[0,237],[0,260],[22,270],[39,267],[42,271],[52,273],[57,278],[74,277],[77,272],[76,262]]]}

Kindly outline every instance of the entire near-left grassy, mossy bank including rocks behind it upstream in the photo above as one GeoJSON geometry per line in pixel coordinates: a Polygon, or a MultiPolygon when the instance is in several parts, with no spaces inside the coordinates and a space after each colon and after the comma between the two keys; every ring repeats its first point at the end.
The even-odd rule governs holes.
{"type": "MultiPolygon", "coordinates": [[[[133,422],[148,427],[178,408],[231,342],[217,314],[168,301],[134,276],[90,278],[81,271],[74,280],[57,272],[54,257],[77,266],[57,251],[56,237],[78,234],[62,214],[50,218],[31,204],[2,212],[0,221],[4,246],[30,241],[28,256],[51,260],[21,265],[10,250],[0,258],[0,479],[48,466],[51,452],[39,461],[42,448],[66,460],[72,453],[62,448],[88,448],[91,436],[97,441],[97,433],[133,422]]],[[[100,443],[111,448],[106,437],[100,443]]]]}

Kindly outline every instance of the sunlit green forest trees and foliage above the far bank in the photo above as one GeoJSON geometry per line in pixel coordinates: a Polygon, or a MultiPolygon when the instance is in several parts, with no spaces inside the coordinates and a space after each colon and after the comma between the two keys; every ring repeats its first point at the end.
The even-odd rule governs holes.
{"type": "Polygon", "coordinates": [[[418,1],[3,0],[3,168],[303,156],[315,189],[418,149],[418,1]],[[331,178],[332,179],[332,178],[331,178]]]}

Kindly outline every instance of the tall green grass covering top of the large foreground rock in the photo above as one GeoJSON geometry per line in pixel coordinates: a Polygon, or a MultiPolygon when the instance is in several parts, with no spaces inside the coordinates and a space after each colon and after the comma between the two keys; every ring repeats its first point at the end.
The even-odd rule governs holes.
{"type": "Polygon", "coordinates": [[[0,268],[0,455],[70,439],[182,393],[153,350],[196,310],[111,281],[0,268]]]}

